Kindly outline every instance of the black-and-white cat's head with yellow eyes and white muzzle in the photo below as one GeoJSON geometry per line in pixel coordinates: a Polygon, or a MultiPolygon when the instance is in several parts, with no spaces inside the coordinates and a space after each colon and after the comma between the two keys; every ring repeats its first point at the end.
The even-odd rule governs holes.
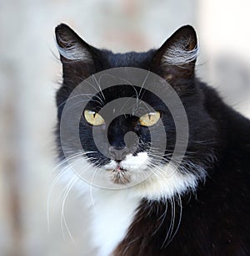
{"type": "Polygon", "coordinates": [[[93,186],[133,186],[140,197],[195,188],[213,159],[214,128],[194,74],[194,29],[179,28],[145,53],[96,49],[65,24],[56,39],[57,142],[72,172],[93,186]]]}

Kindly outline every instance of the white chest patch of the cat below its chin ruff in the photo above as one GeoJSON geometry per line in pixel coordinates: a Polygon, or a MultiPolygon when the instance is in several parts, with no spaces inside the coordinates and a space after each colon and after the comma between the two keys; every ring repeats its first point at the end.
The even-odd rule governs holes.
{"type": "Polygon", "coordinates": [[[110,255],[122,241],[139,203],[140,199],[128,197],[126,190],[92,190],[92,241],[97,255],[110,255]]]}

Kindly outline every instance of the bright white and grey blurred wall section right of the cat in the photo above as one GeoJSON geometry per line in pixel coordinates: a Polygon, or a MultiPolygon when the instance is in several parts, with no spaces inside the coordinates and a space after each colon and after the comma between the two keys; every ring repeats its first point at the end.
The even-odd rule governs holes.
{"type": "Polygon", "coordinates": [[[250,2],[198,2],[198,72],[224,100],[250,118],[250,2]]]}

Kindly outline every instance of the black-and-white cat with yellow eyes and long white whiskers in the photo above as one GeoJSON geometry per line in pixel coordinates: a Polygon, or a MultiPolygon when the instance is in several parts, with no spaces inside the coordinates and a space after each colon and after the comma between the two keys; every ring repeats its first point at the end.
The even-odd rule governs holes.
{"type": "MultiPolygon", "coordinates": [[[[71,179],[72,186],[76,184],[92,207],[89,243],[98,248],[98,255],[250,255],[250,121],[196,77],[194,28],[179,28],[159,49],[126,54],[94,48],[63,23],[55,33],[63,78],[56,95],[58,155],[62,174],[71,179]],[[178,95],[188,120],[187,127],[183,125],[187,148],[178,164],[170,165],[174,147],[182,141],[178,141],[174,120],[181,111],[178,105],[173,115],[160,96],[125,82],[106,89],[97,83],[92,95],[85,85],[86,91],[82,86],[72,97],[85,79],[126,67],[159,76],[178,95]],[[106,115],[100,110],[124,97],[142,100],[153,110],[143,107],[141,113],[117,115],[106,125],[115,109],[106,115]],[[80,110],[77,125],[71,125],[74,112],[68,108],[71,114],[63,113],[67,102],[76,99],[89,100],[80,110]],[[62,118],[68,123],[65,133],[62,118]],[[94,129],[102,149],[94,141],[94,129]],[[168,141],[163,154],[158,154],[158,147],[151,150],[150,132],[158,134],[160,129],[168,141]],[[124,137],[131,131],[138,139],[128,145],[124,137]],[[108,146],[100,138],[105,132],[108,146]],[[82,149],[72,142],[75,134],[82,149]],[[79,178],[72,171],[74,164],[114,189],[79,178]],[[138,182],[136,177],[148,170],[151,174],[138,182]],[[134,180],[137,183],[130,186],[134,180]]],[[[168,95],[168,90],[161,93],[168,95]]],[[[122,105],[116,107],[122,109],[122,105]]],[[[156,139],[158,145],[161,136],[156,139]]]]}

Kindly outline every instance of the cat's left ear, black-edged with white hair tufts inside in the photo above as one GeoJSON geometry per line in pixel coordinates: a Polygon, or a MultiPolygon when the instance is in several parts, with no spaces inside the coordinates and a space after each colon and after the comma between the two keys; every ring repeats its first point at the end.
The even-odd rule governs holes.
{"type": "Polygon", "coordinates": [[[87,44],[66,24],[55,28],[57,49],[62,62],[63,78],[70,76],[72,80],[79,80],[96,72],[95,62],[98,50],[87,44]],[[77,79],[77,77],[79,79],[77,79]]]}

